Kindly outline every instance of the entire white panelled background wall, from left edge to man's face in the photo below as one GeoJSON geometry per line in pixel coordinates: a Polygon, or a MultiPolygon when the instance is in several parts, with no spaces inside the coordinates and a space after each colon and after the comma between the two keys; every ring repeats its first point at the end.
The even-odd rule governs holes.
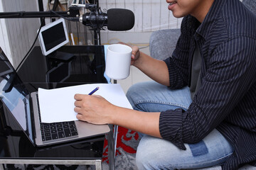
{"type": "MultiPolygon", "coordinates": [[[[43,2],[45,11],[47,11],[47,0],[43,0],[43,2]]],[[[102,30],[102,44],[122,41],[146,46],[152,31],[179,28],[181,24],[181,18],[174,18],[167,8],[168,4],[163,0],[99,0],[99,4],[102,10],[127,8],[133,11],[135,15],[135,24],[132,30],[121,32],[102,30]]],[[[0,11],[38,11],[38,3],[37,1],[29,1],[28,3],[26,0],[0,0],[0,11]]],[[[72,23],[72,25],[71,32],[74,35],[78,32],[83,36],[88,30],[88,28],[84,28],[82,23],[72,23]]],[[[0,46],[14,67],[17,67],[28,52],[39,27],[39,18],[0,19],[0,46]]],[[[90,32],[88,36],[92,36],[90,32]]],[[[85,42],[82,43],[85,44],[85,42]]]]}

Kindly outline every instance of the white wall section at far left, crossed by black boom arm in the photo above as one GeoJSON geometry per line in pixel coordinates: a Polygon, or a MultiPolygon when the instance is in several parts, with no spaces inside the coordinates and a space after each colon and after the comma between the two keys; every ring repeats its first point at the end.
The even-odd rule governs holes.
{"type": "MultiPolygon", "coordinates": [[[[0,11],[38,11],[38,4],[37,1],[0,0],[0,11]]],[[[28,52],[39,27],[39,18],[0,19],[0,45],[14,67],[28,52]]]]}

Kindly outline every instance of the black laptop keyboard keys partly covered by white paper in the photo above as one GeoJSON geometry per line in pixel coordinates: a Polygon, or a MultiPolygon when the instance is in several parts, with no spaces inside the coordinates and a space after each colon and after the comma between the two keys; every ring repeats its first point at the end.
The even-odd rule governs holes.
{"type": "Polygon", "coordinates": [[[43,141],[58,140],[64,137],[78,135],[75,121],[62,123],[41,123],[41,135],[43,141]]]}

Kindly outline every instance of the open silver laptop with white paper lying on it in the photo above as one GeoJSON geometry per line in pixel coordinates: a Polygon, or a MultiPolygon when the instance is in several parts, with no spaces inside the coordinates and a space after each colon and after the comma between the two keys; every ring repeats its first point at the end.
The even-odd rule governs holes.
{"type": "Polygon", "coordinates": [[[110,132],[108,125],[92,125],[80,120],[41,123],[38,92],[28,92],[1,47],[0,99],[34,146],[56,145],[110,132]]]}

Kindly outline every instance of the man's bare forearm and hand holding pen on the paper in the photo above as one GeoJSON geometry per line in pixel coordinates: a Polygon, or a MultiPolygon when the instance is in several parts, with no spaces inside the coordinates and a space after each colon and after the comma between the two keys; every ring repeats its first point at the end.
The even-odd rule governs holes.
{"type": "Polygon", "coordinates": [[[75,94],[77,118],[93,124],[114,124],[147,135],[161,137],[160,113],[146,113],[114,106],[102,96],[75,94]]]}

